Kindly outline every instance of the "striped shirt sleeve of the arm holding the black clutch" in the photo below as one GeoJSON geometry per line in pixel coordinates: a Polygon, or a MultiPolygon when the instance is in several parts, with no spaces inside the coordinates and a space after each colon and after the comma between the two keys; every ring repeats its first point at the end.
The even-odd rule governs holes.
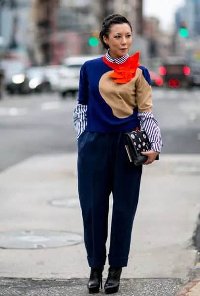
{"type": "Polygon", "coordinates": [[[162,138],[158,122],[152,112],[138,112],[137,117],[149,138],[151,150],[161,152],[162,138]]]}

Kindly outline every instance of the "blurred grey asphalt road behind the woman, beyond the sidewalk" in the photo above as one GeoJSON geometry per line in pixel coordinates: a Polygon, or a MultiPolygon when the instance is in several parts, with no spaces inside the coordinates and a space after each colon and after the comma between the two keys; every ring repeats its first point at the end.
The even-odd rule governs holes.
{"type": "MultiPolygon", "coordinates": [[[[162,153],[200,153],[200,89],[153,88],[162,153]]],[[[76,151],[76,99],[57,93],[13,95],[0,101],[0,171],[35,154],[76,151]]]]}

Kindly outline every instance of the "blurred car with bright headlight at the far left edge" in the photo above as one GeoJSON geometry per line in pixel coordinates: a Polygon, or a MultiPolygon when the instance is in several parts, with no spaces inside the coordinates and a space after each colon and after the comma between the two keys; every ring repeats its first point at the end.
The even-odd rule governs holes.
{"type": "Polygon", "coordinates": [[[8,93],[28,93],[29,81],[25,75],[26,63],[21,60],[2,60],[5,89],[8,93]]]}

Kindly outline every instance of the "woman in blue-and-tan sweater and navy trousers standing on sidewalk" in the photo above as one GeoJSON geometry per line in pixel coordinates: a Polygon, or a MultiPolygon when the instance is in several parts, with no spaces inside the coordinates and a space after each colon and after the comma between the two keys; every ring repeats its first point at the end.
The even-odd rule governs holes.
{"type": "Polygon", "coordinates": [[[106,260],[109,196],[113,195],[107,294],[118,291],[122,267],[127,266],[133,219],[137,208],[142,166],[129,161],[125,131],[143,126],[151,143],[144,152],[151,164],[161,151],[161,133],[152,114],[148,70],[139,54],[128,52],[132,26],[119,14],[102,23],[103,57],[84,63],[80,71],[74,125],[78,132],[78,191],[84,225],[84,243],[91,267],[89,293],[102,289],[106,260]]]}

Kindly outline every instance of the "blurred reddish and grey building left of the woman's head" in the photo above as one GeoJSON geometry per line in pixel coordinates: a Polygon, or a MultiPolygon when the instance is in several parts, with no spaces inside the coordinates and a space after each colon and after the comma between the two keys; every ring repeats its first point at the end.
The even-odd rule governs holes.
{"type": "Polygon", "coordinates": [[[92,1],[33,0],[31,20],[35,63],[58,64],[69,55],[96,53],[88,44],[99,29],[92,1]]]}

